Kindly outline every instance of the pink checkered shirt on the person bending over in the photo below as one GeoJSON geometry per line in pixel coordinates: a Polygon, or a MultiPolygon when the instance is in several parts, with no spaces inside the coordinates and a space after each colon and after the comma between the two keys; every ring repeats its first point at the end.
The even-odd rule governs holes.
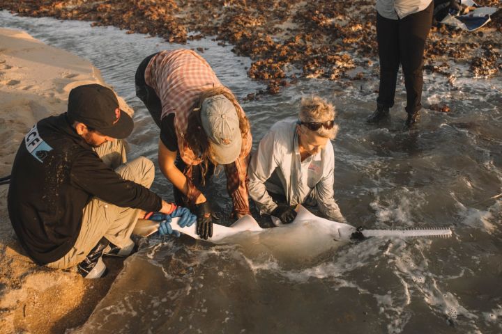
{"type": "MultiPolygon", "coordinates": [[[[197,165],[201,159],[190,149],[185,140],[188,116],[200,93],[209,88],[222,86],[211,66],[195,51],[177,49],[161,51],[145,70],[145,82],[157,93],[162,103],[162,116],[174,113],[174,128],[178,137],[181,159],[188,165],[197,165]]],[[[242,108],[238,113],[244,115],[242,108]]],[[[225,165],[227,191],[234,200],[234,212],[249,213],[246,171],[251,151],[251,133],[243,134],[241,154],[234,164],[225,165]]]]}

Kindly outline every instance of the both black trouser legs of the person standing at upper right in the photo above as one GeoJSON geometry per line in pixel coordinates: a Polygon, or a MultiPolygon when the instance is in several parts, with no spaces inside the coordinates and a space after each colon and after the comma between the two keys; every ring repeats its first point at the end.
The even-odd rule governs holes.
{"type": "Polygon", "coordinates": [[[377,42],[380,59],[380,87],[377,103],[394,105],[399,65],[406,86],[406,112],[422,108],[423,52],[432,24],[434,1],[418,13],[404,19],[386,19],[377,13],[377,42]]]}

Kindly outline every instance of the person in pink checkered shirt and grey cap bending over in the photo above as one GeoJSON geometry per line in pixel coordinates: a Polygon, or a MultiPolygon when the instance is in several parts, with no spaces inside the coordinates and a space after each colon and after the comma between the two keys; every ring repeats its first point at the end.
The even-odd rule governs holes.
{"type": "Polygon", "coordinates": [[[160,170],[174,185],[176,204],[197,214],[197,234],[212,236],[212,210],[197,186],[225,166],[232,216],[250,214],[246,170],[252,137],[236,97],[195,51],[160,51],[140,63],[136,95],[160,127],[160,170]]]}

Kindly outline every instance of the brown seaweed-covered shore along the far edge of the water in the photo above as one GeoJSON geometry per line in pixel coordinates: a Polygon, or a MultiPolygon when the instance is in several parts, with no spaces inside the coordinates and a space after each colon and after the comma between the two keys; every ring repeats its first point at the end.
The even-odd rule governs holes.
{"type": "MultiPolygon", "coordinates": [[[[478,0],[480,6],[498,7],[499,1],[478,0]]],[[[299,78],[330,80],[377,79],[374,72],[358,72],[378,62],[374,1],[340,3],[322,0],[211,1],[204,6],[191,0],[137,1],[3,1],[0,10],[21,16],[55,17],[116,26],[128,33],[144,33],[185,43],[215,38],[233,45],[238,56],[252,64],[248,77],[264,81],[266,91],[278,93],[299,78]],[[289,70],[293,68],[294,70],[289,70]]],[[[425,70],[451,75],[445,61],[469,65],[475,77],[497,77],[502,71],[502,10],[492,22],[469,33],[451,26],[433,26],[425,50],[425,70]]]]}

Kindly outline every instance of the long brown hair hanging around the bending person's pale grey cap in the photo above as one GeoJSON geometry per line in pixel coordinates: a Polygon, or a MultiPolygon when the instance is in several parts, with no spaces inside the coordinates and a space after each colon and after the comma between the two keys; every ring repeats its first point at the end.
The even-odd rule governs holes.
{"type": "MultiPolygon", "coordinates": [[[[215,88],[209,88],[200,93],[199,97],[192,105],[192,111],[188,116],[188,127],[185,138],[190,149],[192,149],[192,151],[202,159],[201,171],[203,185],[208,170],[208,164],[210,161],[212,161],[212,152],[211,145],[209,145],[209,138],[206,135],[206,132],[204,132],[204,129],[202,129],[200,109],[202,107],[202,102],[204,102],[205,99],[215,95],[224,95],[232,104],[234,104],[239,120],[239,128],[241,129],[241,136],[243,136],[244,138],[246,134],[250,132],[249,120],[244,115],[244,113],[239,112],[241,106],[238,104],[235,95],[232,94],[229,89],[227,89],[225,86],[219,86],[215,88]]],[[[217,165],[215,161],[212,162],[213,164],[215,164],[215,166],[217,165]]]]}

